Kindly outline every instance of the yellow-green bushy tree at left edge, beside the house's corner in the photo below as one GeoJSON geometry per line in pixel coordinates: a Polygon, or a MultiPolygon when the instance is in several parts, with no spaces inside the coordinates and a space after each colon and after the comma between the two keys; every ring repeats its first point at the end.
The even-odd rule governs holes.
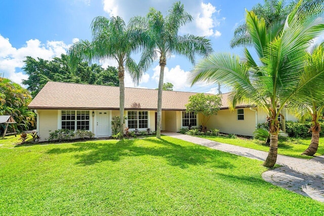
{"type": "Polygon", "coordinates": [[[11,115],[16,124],[10,124],[19,131],[33,129],[35,126],[35,113],[28,110],[31,101],[29,92],[10,79],[0,77],[0,115],[11,115]]]}

